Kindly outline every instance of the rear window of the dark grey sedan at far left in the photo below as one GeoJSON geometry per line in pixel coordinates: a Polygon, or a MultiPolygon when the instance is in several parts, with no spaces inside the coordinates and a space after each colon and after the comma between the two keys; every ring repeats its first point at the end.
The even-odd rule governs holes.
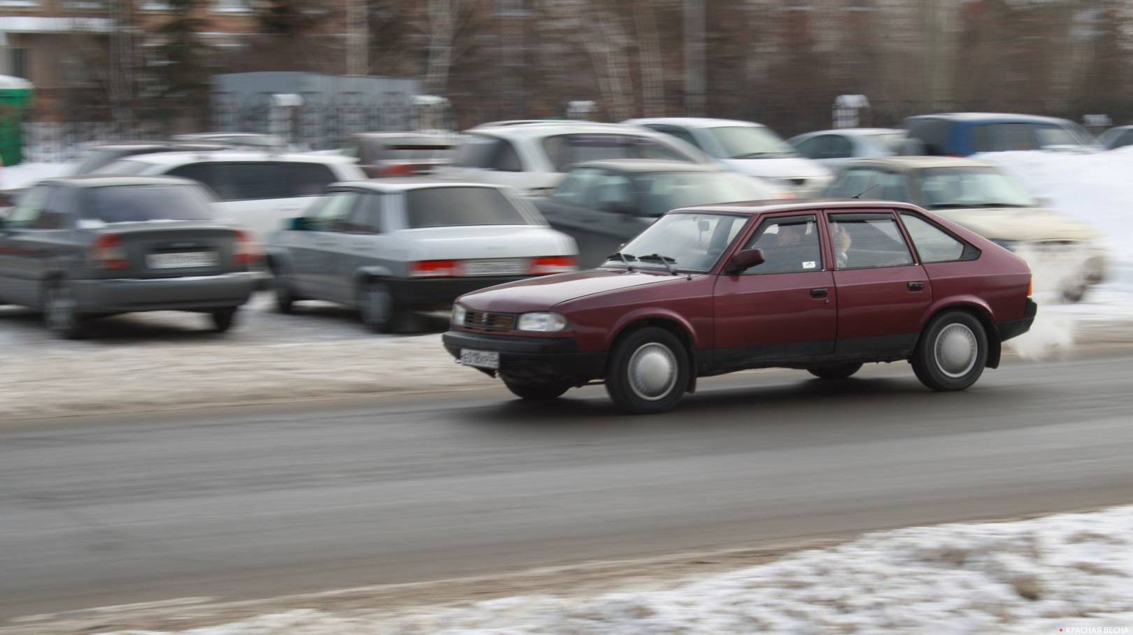
{"type": "Polygon", "coordinates": [[[91,188],[80,204],[83,218],[103,223],[206,221],[208,199],[195,186],[110,186],[91,188]]]}

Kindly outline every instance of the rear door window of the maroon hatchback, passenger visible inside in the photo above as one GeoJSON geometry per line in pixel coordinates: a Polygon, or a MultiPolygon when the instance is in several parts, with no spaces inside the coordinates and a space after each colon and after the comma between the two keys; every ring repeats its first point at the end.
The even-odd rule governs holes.
{"type": "Polygon", "coordinates": [[[912,252],[892,214],[830,214],[830,238],[840,269],[912,265],[912,252]]]}

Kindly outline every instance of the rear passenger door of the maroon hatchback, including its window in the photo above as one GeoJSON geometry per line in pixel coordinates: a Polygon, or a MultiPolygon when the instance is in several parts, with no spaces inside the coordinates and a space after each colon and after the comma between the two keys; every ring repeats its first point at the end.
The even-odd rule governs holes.
{"type": "Polygon", "coordinates": [[[837,289],[838,355],[903,357],[932,301],[925,269],[914,261],[892,211],[827,213],[837,289]]]}

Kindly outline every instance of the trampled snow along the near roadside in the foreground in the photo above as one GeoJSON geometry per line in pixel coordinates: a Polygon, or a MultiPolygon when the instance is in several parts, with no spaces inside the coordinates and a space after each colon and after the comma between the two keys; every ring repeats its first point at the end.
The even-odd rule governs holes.
{"type": "MultiPolygon", "coordinates": [[[[580,599],[513,597],[399,613],[295,610],[182,633],[974,634],[1094,628],[1133,632],[1133,506],[879,532],[666,590],[580,599]]],[[[143,633],[169,635],[129,632],[143,633]]]]}

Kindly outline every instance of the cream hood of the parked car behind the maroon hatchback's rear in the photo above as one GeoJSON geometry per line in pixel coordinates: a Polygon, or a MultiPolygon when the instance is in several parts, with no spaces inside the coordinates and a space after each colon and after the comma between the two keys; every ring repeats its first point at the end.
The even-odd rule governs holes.
{"type": "Polygon", "coordinates": [[[932,212],[983,238],[998,240],[1090,240],[1094,235],[1093,229],[1082,221],[1039,207],[977,207],[932,212]]]}

